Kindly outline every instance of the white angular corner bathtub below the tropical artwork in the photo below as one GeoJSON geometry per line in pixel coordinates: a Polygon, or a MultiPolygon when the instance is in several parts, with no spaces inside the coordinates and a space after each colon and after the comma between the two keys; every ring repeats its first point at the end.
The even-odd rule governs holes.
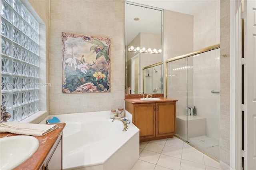
{"type": "MultiPolygon", "coordinates": [[[[109,111],[56,116],[63,130],[64,170],[130,170],[139,158],[139,129],[111,122],[109,111]]],[[[48,118],[48,119],[49,119],[48,118]]]]}

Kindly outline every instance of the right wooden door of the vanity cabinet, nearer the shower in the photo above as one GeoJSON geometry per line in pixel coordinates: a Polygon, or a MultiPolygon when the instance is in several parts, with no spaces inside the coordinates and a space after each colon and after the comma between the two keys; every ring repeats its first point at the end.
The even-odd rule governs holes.
{"type": "Polygon", "coordinates": [[[176,134],[176,102],[156,103],[156,137],[176,134]]]}

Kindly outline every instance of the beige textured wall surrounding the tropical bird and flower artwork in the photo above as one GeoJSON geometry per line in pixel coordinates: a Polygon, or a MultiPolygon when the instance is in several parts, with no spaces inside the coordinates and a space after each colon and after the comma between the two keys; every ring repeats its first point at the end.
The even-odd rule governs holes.
{"type": "Polygon", "coordinates": [[[124,107],[124,1],[52,0],[50,9],[50,114],[124,107]],[[110,93],[62,93],[62,32],[110,38],[110,93]]]}

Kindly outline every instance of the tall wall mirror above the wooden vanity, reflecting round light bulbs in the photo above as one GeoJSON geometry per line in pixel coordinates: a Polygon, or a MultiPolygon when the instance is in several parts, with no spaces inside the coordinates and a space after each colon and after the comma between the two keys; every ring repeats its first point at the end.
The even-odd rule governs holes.
{"type": "Polygon", "coordinates": [[[163,93],[163,10],[125,2],[126,94],[163,93]]]}

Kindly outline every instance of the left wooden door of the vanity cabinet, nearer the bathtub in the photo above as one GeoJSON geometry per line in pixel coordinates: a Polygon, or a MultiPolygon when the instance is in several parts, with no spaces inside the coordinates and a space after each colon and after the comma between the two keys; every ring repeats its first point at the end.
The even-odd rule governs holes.
{"type": "Polygon", "coordinates": [[[135,104],[134,125],[140,129],[140,139],[156,136],[156,104],[135,104]]]}

